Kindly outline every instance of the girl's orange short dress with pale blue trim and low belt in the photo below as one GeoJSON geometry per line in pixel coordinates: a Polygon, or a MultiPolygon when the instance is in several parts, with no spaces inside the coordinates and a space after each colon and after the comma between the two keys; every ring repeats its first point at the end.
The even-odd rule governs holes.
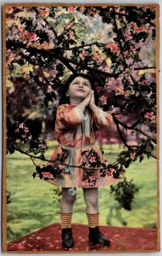
{"type": "Polygon", "coordinates": [[[110,113],[102,111],[101,108],[98,110],[100,118],[97,119],[90,108],[85,108],[83,113],[75,103],[63,104],[57,109],[55,132],[59,144],[50,160],[56,160],[58,156],[65,156],[67,153],[64,163],[70,166],[61,165],[60,160],[56,160],[55,164],[49,162],[48,165],[59,166],[62,172],[47,182],[63,188],[92,188],[117,182],[111,170],[105,171],[104,175],[101,175],[103,172],[100,172],[100,168],[96,170],[96,158],[100,163],[108,162],[94,145],[95,131],[105,131],[113,124],[113,116],[110,113]],[[90,149],[95,155],[89,156],[90,149]],[[95,166],[95,171],[85,172],[85,169],[78,167],[81,165],[89,168],[95,166]]]}

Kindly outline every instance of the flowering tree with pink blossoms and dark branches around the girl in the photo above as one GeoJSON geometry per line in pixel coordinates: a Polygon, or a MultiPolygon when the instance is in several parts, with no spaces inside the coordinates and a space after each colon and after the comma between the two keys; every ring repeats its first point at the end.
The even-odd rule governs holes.
{"type": "MultiPolygon", "coordinates": [[[[90,73],[100,108],[113,114],[113,132],[127,149],[112,164],[98,163],[96,157],[89,167],[100,166],[103,175],[113,170],[119,177],[145,155],[156,158],[155,11],[153,6],[6,8],[8,152],[27,154],[34,164],[34,159],[48,161],[47,145],[37,137],[42,125],[47,130],[54,124],[69,74],[90,73]],[[39,124],[37,134],[33,120],[39,124]],[[135,143],[129,131],[136,132],[135,143]]],[[[59,160],[68,166],[66,154],[59,160]]],[[[48,179],[61,170],[36,165],[33,177],[42,178],[44,172],[48,179]]]]}

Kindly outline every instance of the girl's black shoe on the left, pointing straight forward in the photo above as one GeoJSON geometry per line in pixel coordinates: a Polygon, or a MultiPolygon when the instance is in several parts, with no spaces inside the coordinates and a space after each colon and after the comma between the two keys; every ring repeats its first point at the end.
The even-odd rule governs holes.
{"type": "Polygon", "coordinates": [[[61,240],[62,247],[72,248],[74,246],[72,228],[62,229],[61,240]]]}

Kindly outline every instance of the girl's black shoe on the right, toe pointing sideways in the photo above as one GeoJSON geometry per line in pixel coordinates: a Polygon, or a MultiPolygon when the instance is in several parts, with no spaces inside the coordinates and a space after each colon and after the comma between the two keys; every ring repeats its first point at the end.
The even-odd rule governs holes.
{"type": "Polygon", "coordinates": [[[92,242],[93,244],[101,243],[103,245],[110,246],[111,241],[106,236],[103,236],[103,234],[99,230],[99,227],[89,228],[89,231],[90,242],[92,242]]]}

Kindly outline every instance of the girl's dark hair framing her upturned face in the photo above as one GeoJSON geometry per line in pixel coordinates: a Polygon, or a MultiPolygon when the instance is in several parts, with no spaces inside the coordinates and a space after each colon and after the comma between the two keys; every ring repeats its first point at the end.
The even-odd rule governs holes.
{"type": "Polygon", "coordinates": [[[78,77],[89,80],[91,89],[94,90],[95,105],[98,106],[99,98],[98,98],[98,93],[95,89],[95,81],[89,74],[85,74],[85,73],[74,73],[67,79],[66,83],[61,88],[61,98],[59,101],[59,105],[66,104],[66,103],[70,104],[69,97],[66,96],[66,93],[67,93],[67,90],[69,89],[69,85],[72,83],[73,79],[78,78],[78,77]]]}

